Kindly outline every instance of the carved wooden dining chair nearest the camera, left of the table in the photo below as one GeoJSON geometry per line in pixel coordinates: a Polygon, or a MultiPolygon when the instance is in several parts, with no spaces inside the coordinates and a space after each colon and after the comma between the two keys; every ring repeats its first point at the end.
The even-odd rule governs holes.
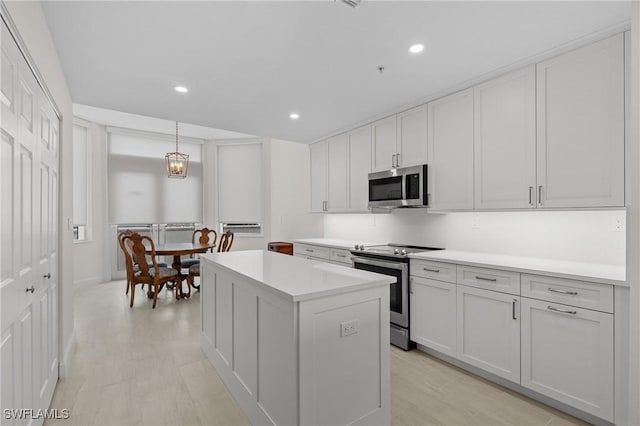
{"type": "Polygon", "coordinates": [[[131,302],[129,307],[133,307],[136,284],[148,284],[149,291],[153,291],[153,309],[155,309],[158,293],[167,281],[175,281],[177,279],[178,271],[173,268],[158,266],[156,246],[151,238],[134,232],[130,235],[125,235],[122,240],[125,246],[131,244],[131,264],[138,265],[138,271],[132,271],[131,274],[131,302]],[[147,260],[145,242],[150,247],[151,254],[149,257],[151,262],[147,260]],[[150,267],[149,265],[152,266],[150,267]]]}

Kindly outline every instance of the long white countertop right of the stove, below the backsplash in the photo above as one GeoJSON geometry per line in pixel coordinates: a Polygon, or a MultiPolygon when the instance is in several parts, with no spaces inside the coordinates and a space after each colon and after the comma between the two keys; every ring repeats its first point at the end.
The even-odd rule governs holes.
{"type": "Polygon", "coordinates": [[[537,257],[510,256],[503,254],[479,253],[457,250],[439,250],[409,255],[413,259],[435,262],[458,263],[527,272],[539,275],[552,275],[562,278],[579,279],[604,284],[628,286],[626,269],[619,265],[604,265],[586,262],[544,259],[537,257]]]}

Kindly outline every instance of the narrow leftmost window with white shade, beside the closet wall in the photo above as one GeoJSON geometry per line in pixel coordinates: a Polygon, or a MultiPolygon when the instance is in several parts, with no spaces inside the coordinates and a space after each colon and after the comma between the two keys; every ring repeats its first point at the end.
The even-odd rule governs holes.
{"type": "Polygon", "coordinates": [[[89,240],[90,128],[80,120],[73,124],[73,240],[89,240]]]}

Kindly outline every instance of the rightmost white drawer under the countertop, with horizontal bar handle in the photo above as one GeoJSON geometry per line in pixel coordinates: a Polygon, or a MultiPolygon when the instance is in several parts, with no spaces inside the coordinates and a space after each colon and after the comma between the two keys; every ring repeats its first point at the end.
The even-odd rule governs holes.
{"type": "Polygon", "coordinates": [[[613,286],[610,284],[522,274],[522,295],[613,313],[613,286]]]}

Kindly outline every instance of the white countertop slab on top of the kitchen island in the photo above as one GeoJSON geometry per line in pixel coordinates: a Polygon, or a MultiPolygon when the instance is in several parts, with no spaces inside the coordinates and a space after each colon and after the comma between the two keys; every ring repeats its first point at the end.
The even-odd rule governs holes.
{"type": "Polygon", "coordinates": [[[200,259],[294,302],[387,286],[395,281],[388,275],[265,250],[206,253],[200,259]]]}

